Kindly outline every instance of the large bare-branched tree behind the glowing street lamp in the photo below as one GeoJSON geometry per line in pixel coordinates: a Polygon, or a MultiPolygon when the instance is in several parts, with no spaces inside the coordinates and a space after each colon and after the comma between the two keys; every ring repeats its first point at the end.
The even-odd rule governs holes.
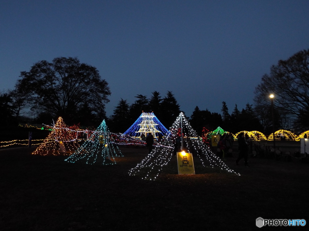
{"type": "Polygon", "coordinates": [[[279,60],[263,75],[255,90],[256,107],[270,105],[269,95],[274,94],[274,106],[281,112],[297,117],[302,130],[309,128],[309,49],[299,51],[287,60],[279,60]]]}

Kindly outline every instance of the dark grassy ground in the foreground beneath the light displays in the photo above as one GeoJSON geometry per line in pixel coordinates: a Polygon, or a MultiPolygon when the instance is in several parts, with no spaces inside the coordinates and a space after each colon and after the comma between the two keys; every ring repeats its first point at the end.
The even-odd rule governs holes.
{"type": "Polygon", "coordinates": [[[309,222],[309,165],[296,159],[250,158],[246,168],[228,158],[237,176],[201,167],[196,157],[196,175],[177,175],[174,157],[146,181],[128,175],[144,148],[122,147],[125,157],[106,166],[33,150],[0,151],[0,230],[258,230],[257,217],[309,222]]]}

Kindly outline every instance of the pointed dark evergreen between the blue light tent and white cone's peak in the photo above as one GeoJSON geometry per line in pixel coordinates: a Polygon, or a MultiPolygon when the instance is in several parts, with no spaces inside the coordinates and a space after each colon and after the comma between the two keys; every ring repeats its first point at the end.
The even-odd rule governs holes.
{"type": "Polygon", "coordinates": [[[180,114],[180,106],[171,91],[167,91],[163,98],[161,109],[161,122],[166,128],[169,128],[180,114]]]}

